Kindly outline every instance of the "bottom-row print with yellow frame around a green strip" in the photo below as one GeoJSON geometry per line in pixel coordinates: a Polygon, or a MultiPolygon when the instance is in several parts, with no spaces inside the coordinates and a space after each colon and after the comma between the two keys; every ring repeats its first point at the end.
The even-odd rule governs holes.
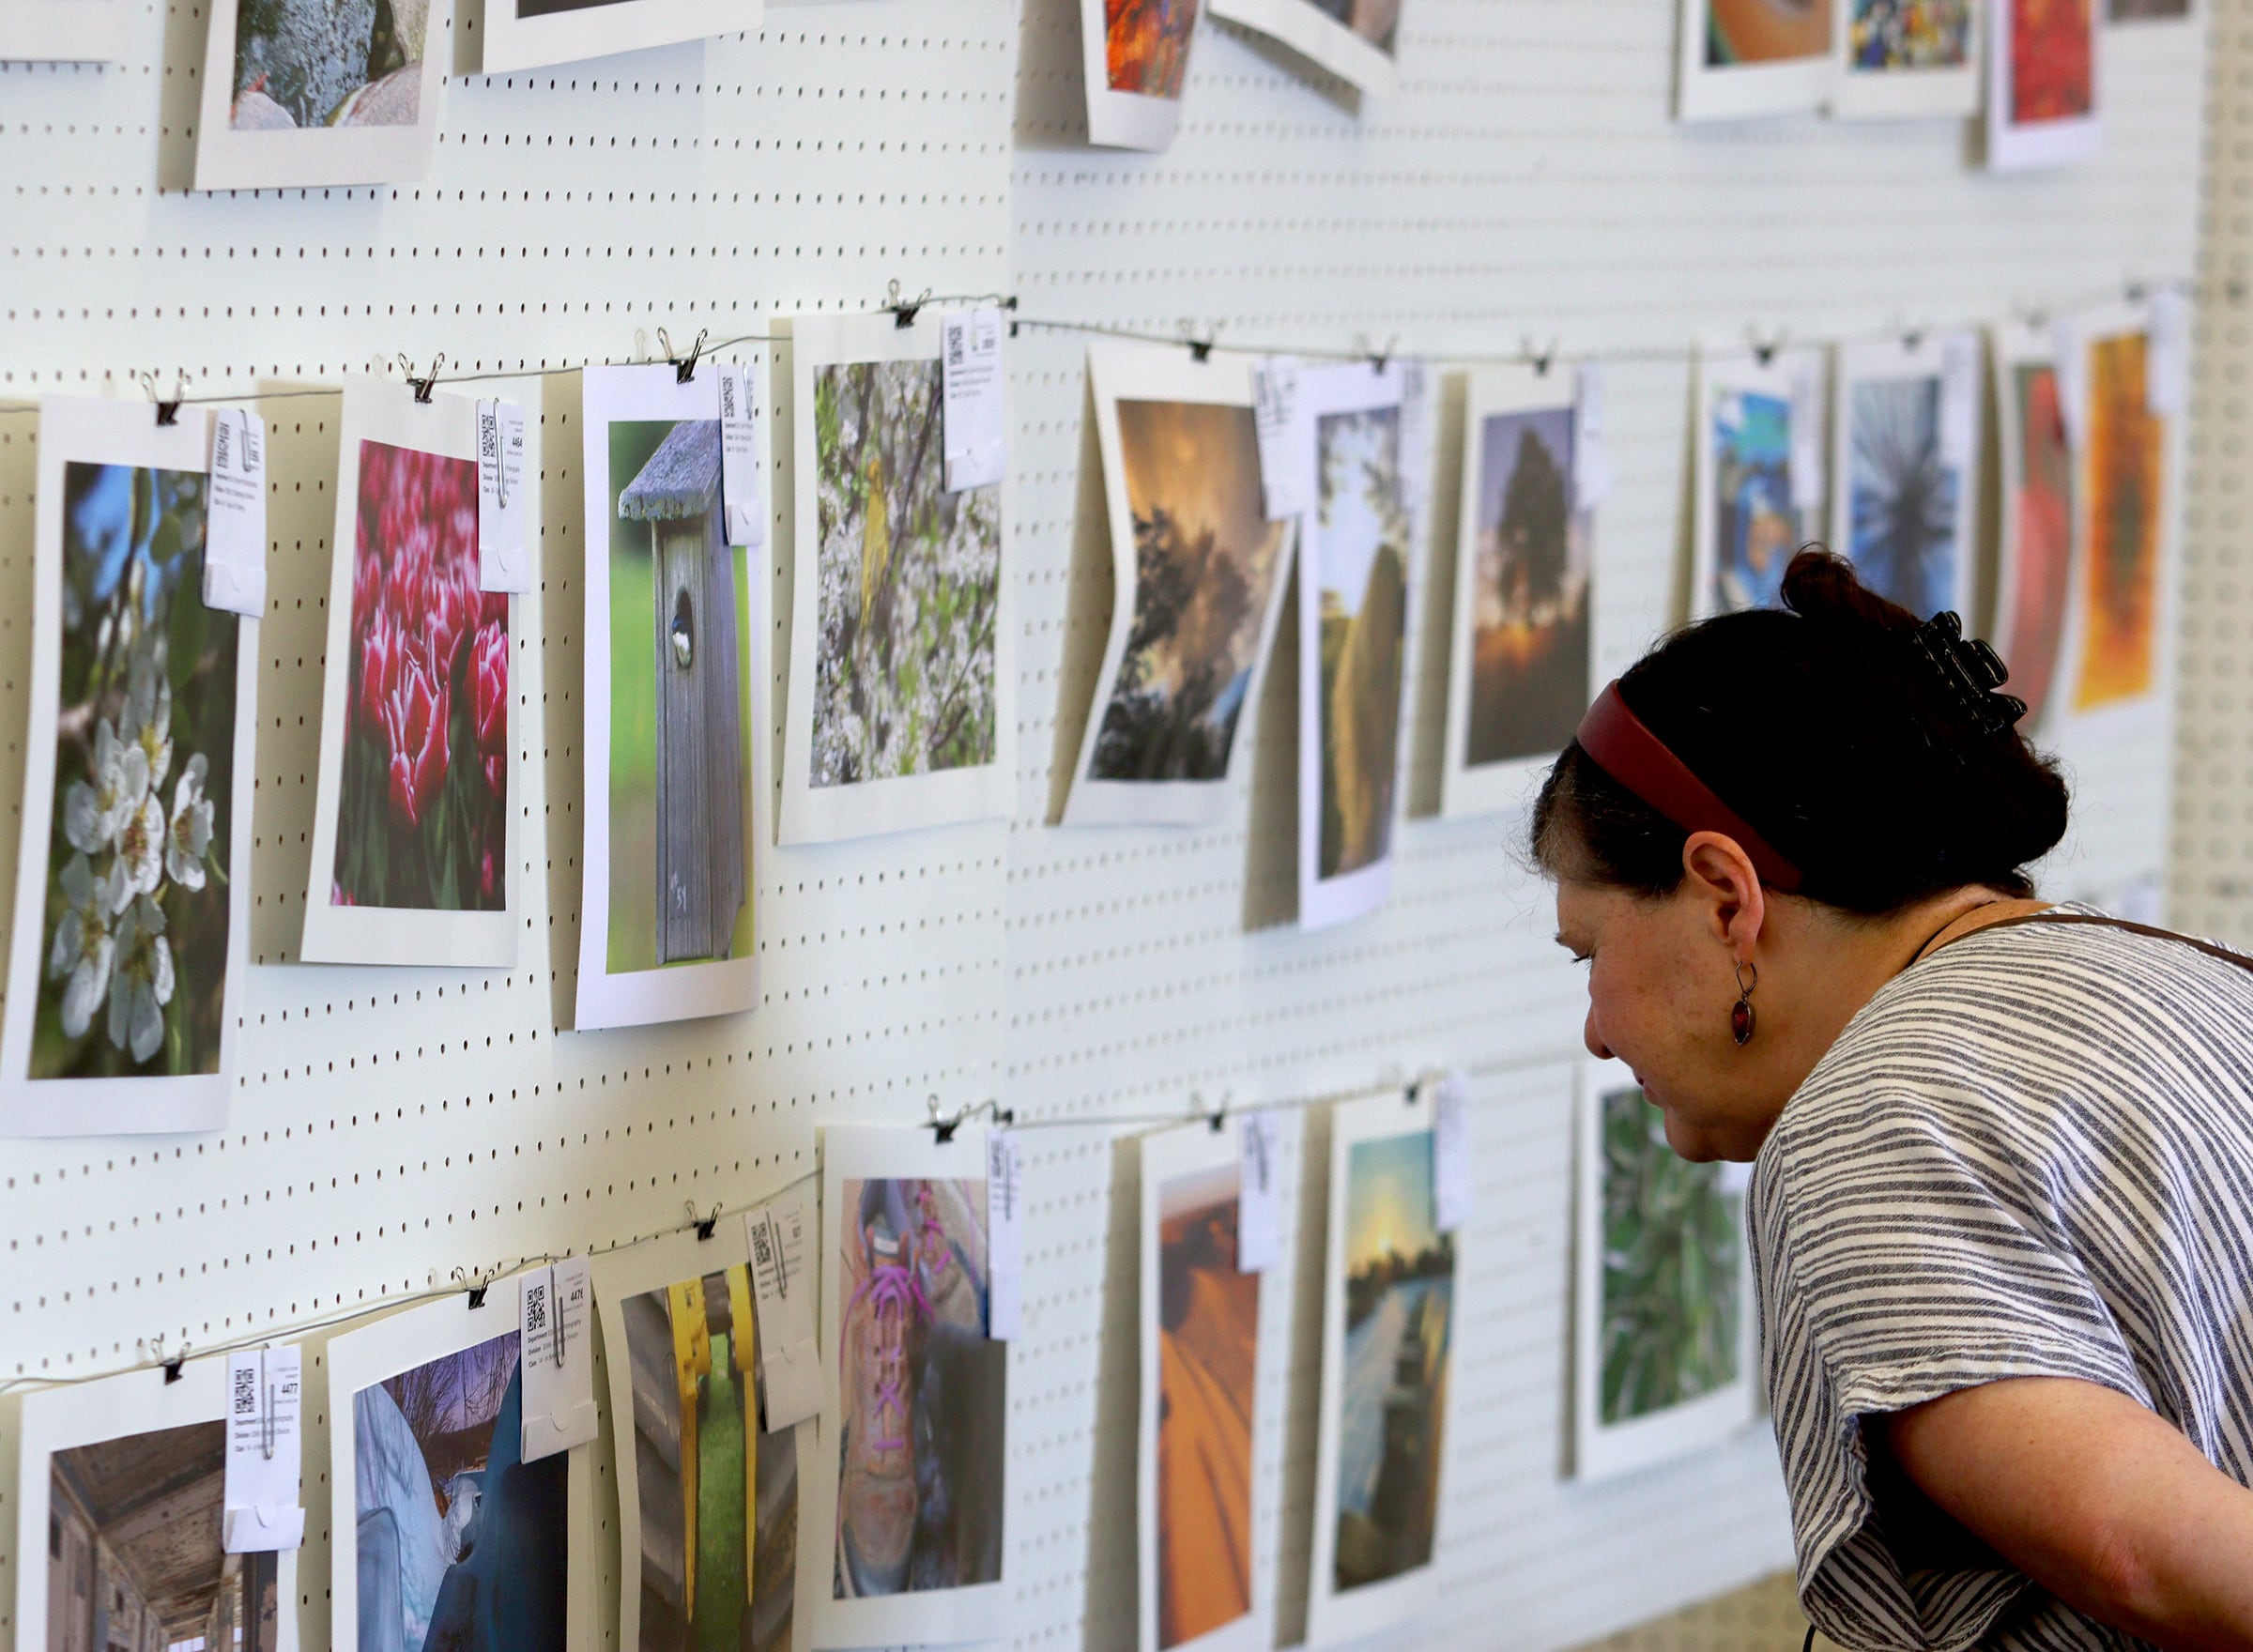
{"type": "Polygon", "coordinates": [[[602,1258],[595,1294],[620,1420],[620,1652],[789,1652],[813,1431],[764,1431],[741,1224],[602,1258]]]}

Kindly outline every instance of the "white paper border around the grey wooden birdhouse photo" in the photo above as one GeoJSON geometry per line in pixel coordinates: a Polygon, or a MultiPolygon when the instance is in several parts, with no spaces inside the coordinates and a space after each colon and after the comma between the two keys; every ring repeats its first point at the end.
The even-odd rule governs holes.
{"type": "MultiPolygon", "coordinates": [[[[588,367],[581,374],[581,469],[586,476],[586,685],[579,708],[586,717],[581,750],[586,753],[584,809],[586,843],[579,854],[579,996],[572,1025],[631,1028],[653,1021],[689,1021],[707,1014],[737,1014],[759,1003],[757,940],[743,958],[716,958],[703,965],[658,965],[611,974],[611,424],[620,419],[712,419],[719,424],[719,367],[705,363],[689,383],[678,383],[669,363],[651,367],[588,367]]],[[[743,780],[750,809],[743,827],[743,899],[753,904],[753,935],[766,922],[759,913],[759,874],[766,856],[759,841],[766,778],[766,557],[759,550],[739,554],[737,577],[746,581],[746,624],[750,627],[750,683],[743,705],[743,780]]]]}

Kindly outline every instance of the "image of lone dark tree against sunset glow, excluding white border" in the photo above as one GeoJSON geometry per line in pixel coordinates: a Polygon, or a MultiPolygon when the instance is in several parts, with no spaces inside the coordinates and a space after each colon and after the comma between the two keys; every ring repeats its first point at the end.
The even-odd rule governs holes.
{"type": "Polygon", "coordinates": [[[1588,703],[1588,525],[1573,509],[1573,410],[1478,433],[1467,766],[1561,750],[1588,703]]]}

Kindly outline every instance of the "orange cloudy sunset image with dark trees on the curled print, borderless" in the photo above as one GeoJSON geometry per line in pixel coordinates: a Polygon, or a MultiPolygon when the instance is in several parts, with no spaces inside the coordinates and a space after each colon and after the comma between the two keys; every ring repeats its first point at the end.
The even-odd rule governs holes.
{"type": "Polygon", "coordinates": [[[1120,401],[1117,419],[1133,624],[1088,778],[1226,780],[1286,527],[1259,503],[1253,410],[1120,401]]]}

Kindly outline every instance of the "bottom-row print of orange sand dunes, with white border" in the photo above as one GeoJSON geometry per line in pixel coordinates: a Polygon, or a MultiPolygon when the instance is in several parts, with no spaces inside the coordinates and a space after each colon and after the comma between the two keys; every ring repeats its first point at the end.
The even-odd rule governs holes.
{"type": "Polygon", "coordinates": [[[1237,1264],[1235,1122],[1142,1138],[1140,1647],[1248,1647],[1259,1273],[1237,1264]]]}

